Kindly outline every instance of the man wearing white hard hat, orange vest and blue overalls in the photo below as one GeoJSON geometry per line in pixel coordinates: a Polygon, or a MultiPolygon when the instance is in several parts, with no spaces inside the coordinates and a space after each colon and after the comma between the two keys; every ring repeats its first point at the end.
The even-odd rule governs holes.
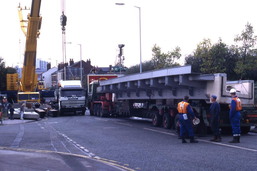
{"type": "Polygon", "coordinates": [[[233,140],[231,140],[230,143],[240,143],[240,110],[242,110],[241,101],[236,96],[236,90],[234,88],[230,90],[230,95],[232,100],[230,105],[229,119],[233,133],[233,140]]]}

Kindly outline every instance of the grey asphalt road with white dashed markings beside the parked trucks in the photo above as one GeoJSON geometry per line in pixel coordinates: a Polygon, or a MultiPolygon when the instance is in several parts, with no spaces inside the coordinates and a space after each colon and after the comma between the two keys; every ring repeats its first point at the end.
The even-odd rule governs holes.
{"type": "MultiPolygon", "coordinates": [[[[241,135],[241,143],[236,144],[228,143],[232,135],[222,135],[221,143],[210,142],[212,135],[207,135],[195,137],[199,143],[187,140],[188,143],[182,144],[174,133],[171,129],[153,127],[147,119],[99,118],[86,113],[1,126],[0,142],[4,150],[19,148],[76,154],[106,162],[108,167],[116,166],[114,169],[256,170],[256,133],[241,135]]],[[[77,170],[69,165],[73,157],[62,161],[68,163],[71,170],[77,170]]],[[[81,163],[80,160],[77,163],[81,163]]],[[[102,170],[91,165],[94,167],[85,167],[85,170],[97,170],[97,167],[102,170]]]]}

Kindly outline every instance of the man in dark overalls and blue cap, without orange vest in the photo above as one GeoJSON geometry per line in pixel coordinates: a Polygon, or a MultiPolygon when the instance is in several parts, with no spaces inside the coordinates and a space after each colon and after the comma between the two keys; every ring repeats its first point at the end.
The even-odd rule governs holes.
{"type": "Polygon", "coordinates": [[[213,139],[210,141],[221,142],[221,132],[219,130],[219,112],[221,111],[221,106],[216,101],[217,96],[210,96],[212,105],[210,106],[210,125],[212,127],[213,139]]]}

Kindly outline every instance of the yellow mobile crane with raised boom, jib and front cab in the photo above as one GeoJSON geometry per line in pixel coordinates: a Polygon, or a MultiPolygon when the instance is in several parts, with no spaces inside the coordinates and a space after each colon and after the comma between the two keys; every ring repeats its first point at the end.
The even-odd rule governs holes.
{"type": "MultiPolygon", "coordinates": [[[[26,36],[24,62],[22,78],[19,86],[18,102],[27,101],[33,103],[35,107],[40,106],[40,94],[35,91],[35,69],[36,69],[36,45],[37,38],[40,35],[40,27],[42,17],[40,16],[40,4],[41,0],[32,0],[31,11],[28,14],[28,20],[23,20],[22,7],[18,6],[19,19],[21,24],[21,29],[26,36]],[[27,26],[25,26],[27,23],[27,26]],[[25,27],[27,27],[27,33],[25,32],[25,27]]],[[[26,7],[25,7],[26,9],[26,7]]]]}

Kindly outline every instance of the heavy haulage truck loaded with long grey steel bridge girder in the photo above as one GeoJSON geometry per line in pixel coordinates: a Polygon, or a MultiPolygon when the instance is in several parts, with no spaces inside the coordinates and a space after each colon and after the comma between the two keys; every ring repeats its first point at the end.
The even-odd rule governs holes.
{"type": "Polygon", "coordinates": [[[195,132],[205,134],[209,123],[210,96],[217,96],[221,105],[220,126],[230,127],[229,105],[232,97],[229,90],[235,88],[241,100],[240,126],[248,133],[251,126],[257,125],[257,112],[254,105],[254,82],[226,81],[226,74],[202,75],[192,73],[191,66],[164,68],[144,73],[92,82],[89,85],[88,108],[90,115],[123,115],[151,118],[153,126],[171,128],[177,125],[177,104],[185,95],[200,124],[195,132]],[[114,94],[114,96],[113,96],[114,94]],[[137,104],[143,103],[138,108],[137,104]]]}

